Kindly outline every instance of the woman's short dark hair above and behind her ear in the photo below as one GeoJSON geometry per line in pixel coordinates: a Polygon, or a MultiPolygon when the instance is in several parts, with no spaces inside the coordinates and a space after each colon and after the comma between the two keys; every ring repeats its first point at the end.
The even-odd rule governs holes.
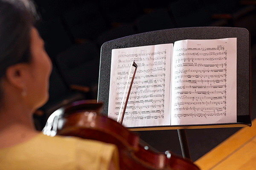
{"type": "MultiPolygon", "coordinates": [[[[31,61],[30,31],[34,22],[23,1],[0,0],[0,80],[9,66],[31,61]]],[[[0,84],[0,101],[2,90],[0,84]]]]}

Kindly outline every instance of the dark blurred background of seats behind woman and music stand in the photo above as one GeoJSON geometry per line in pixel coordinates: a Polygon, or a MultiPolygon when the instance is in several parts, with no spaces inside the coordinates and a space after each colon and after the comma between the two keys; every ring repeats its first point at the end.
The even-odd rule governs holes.
{"type": "MultiPolygon", "coordinates": [[[[247,28],[251,37],[252,87],[255,84],[256,10],[254,0],[35,0],[36,24],[53,62],[49,101],[34,116],[41,130],[49,115],[78,99],[97,99],[101,45],[109,40],[169,28],[228,26],[247,28]],[[82,85],[90,92],[73,90],[82,85]]],[[[254,88],[253,88],[254,90],[254,88]]],[[[252,93],[251,118],[256,117],[252,93]]],[[[240,127],[186,130],[192,161],[240,127]]],[[[177,130],[140,131],[141,139],[181,155],[177,130]]]]}

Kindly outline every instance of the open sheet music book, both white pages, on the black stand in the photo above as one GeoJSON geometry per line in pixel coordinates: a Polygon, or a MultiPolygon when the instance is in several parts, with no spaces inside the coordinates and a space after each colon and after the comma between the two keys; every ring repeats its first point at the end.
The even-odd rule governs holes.
{"type": "Polygon", "coordinates": [[[225,38],[112,49],[108,116],[118,117],[135,61],[126,127],[236,122],[236,44],[225,38]]]}

